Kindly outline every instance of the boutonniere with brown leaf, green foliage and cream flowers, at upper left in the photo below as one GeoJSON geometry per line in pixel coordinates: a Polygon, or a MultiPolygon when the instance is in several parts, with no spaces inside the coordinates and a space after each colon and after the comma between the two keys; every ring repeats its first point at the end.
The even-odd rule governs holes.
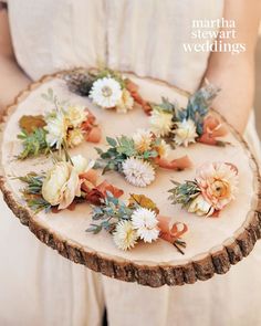
{"type": "Polygon", "coordinates": [[[50,150],[73,148],[81,143],[98,143],[102,132],[95,116],[85,107],[60,102],[48,90],[42,97],[53,104],[53,109],[45,116],[22,116],[19,120],[23,150],[20,159],[48,154],[50,150]]]}

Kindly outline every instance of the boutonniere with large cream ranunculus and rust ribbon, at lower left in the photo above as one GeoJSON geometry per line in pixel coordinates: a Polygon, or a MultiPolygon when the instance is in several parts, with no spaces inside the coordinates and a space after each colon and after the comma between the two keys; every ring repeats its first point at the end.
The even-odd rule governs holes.
{"type": "Polygon", "coordinates": [[[53,168],[19,177],[25,187],[21,190],[23,199],[30,209],[59,211],[73,209],[74,204],[87,201],[100,204],[106,198],[107,191],[115,197],[123,194],[106,180],[97,182],[97,172],[93,169],[94,161],[88,161],[81,155],[70,160],[55,159],[53,168]]]}

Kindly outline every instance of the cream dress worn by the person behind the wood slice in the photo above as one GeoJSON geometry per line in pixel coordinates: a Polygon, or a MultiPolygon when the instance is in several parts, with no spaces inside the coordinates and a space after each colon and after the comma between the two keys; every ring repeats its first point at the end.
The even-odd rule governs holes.
{"type": "MultiPolygon", "coordinates": [[[[32,80],[103,62],[190,92],[209,53],[186,53],[181,44],[191,41],[192,19],[218,19],[223,10],[223,0],[8,2],[15,55],[32,80]]],[[[252,119],[246,138],[260,155],[252,119]]],[[[112,326],[261,325],[260,243],[226,275],[154,290],[66,261],[22,228],[2,200],[0,211],[0,325],[100,325],[104,306],[112,326]]]]}

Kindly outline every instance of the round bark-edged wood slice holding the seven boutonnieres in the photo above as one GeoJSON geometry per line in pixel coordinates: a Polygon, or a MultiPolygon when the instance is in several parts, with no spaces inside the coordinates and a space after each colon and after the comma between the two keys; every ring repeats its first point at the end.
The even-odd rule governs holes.
{"type": "MultiPolygon", "coordinates": [[[[145,189],[128,185],[115,172],[105,175],[109,182],[124,189],[124,198],[129,193],[147,194],[157,202],[161,214],[185,222],[189,227],[189,232],[184,238],[187,242],[185,255],[178,253],[164,240],[153,244],[140,243],[128,252],[117,250],[109,234],[102,232],[94,235],[85,232],[92,222],[87,203],[79,204],[73,212],[64,210],[58,214],[44,212],[33,214],[21,199],[19,189],[22,188],[22,183],[13,177],[32,170],[42,171],[49,168],[51,162],[45,157],[25,161],[14,159],[21,151],[21,144],[17,139],[18,120],[23,114],[38,115],[51,109],[51,104],[41,97],[48,88],[52,87],[61,99],[85,105],[95,114],[103,128],[101,147],[105,147],[105,136],[132,135],[136,129],[149,126],[147,116],[139,107],[135,107],[127,115],[121,115],[100,109],[88,98],[70,93],[62,74],[49,75],[32,83],[7,108],[2,117],[0,188],[7,204],[22,224],[27,225],[40,241],[75,263],[109,277],[152,287],[206,281],[215,274],[227,273],[231,265],[249,255],[257,240],[261,238],[261,178],[248,145],[228,124],[230,134],[225,140],[231,145],[226,148],[195,144],[187,149],[178,148],[171,154],[173,157],[189,155],[195,168],[206,161],[217,160],[230,161],[238,167],[239,193],[218,219],[199,218],[181,210],[178,206],[170,204],[167,199],[167,190],[171,188],[170,180],[192,179],[195,168],[181,172],[158,170],[156,181],[145,189]]],[[[186,105],[188,95],[186,92],[160,81],[139,78],[135,75],[130,77],[139,85],[144,98],[159,102],[160,97],[165,96],[186,105]]],[[[222,117],[220,118],[226,123],[222,117]]],[[[81,153],[95,158],[94,147],[85,143],[73,149],[72,155],[81,153]]]]}

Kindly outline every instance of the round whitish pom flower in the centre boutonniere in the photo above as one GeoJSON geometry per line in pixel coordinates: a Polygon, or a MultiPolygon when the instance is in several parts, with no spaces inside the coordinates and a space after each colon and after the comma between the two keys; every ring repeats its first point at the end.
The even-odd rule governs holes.
{"type": "Polygon", "coordinates": [[[146,187],[155,179],[153,166],[138,158],[127,158],[123,162],[123,172],[126,180],[136,187],[146,187]]]}

